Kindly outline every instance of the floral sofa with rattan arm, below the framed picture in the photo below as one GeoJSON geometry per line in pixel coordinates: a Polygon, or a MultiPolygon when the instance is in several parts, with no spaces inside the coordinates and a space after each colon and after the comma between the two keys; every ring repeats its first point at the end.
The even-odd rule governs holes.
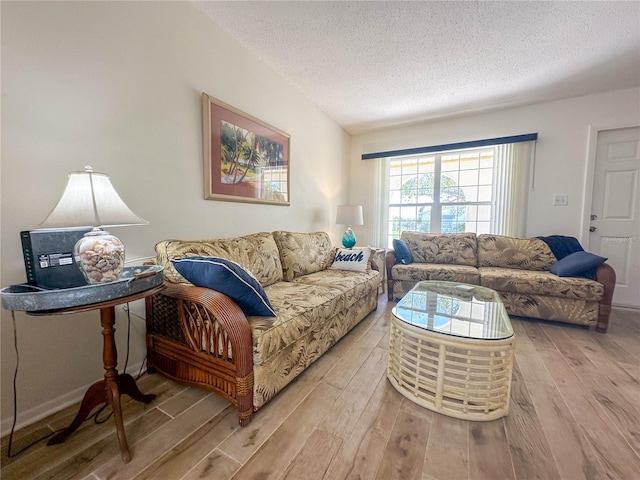
{"type": "Polygon", "coordinates": [[[377,308],[380,272],[371,262],[336,269],[324,232],[166,240],[155,249],[166,288],[147,298],[148,368],[229,399],[240,425],[377,308]],[[245,314],[228,295],[190,284],[176,265],[201,257],[250,272],[275,316],[245,314]]]}

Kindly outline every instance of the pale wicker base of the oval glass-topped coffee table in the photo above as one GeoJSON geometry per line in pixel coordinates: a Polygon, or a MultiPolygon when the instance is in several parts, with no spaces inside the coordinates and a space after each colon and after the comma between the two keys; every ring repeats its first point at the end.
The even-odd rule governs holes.
{"type": "Polygon", "coordinates": [[[515,336],[476,340],[434,333],[391,315],[387,377],[406,398],[464,420],[509,412],[515,336]]]}

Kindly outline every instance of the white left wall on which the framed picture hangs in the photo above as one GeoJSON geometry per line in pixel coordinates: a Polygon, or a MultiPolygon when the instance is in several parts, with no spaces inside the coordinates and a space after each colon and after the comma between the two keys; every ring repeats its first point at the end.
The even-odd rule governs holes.
{"type": "MultiPolygon", "coordinates": [[[[338,244],[350,137],[188,2],[1,2],[2,286],[25,281],[19,232],[55,205],[68,172],[110,175],[150,225],[113,229],[127,261],[165,238],[326,230],[338,244]],[[291,135],[291,206],[203,200],[201,92],[291,135]]],[[[141,302],[135,311],[143,314],[141,302]]],[[[98,312],[16,313],[19,425],[102,378],[98,312]]],[[[119,366],[126,316],[117,309],[119,366]]],[[[145,353],[132,325],[129,366],[145,353]]],[[[2,310],[2,431],[16,363],[2,310]]]]}

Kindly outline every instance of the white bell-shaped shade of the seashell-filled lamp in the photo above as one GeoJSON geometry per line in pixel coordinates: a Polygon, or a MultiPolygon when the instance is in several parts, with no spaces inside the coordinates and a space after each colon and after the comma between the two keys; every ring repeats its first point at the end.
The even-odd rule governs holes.
{"type": "Polygon", "coordinates": [[[116,192],[109,176],[85,167],[71,172],[67,187],[51,213],[38,228],[117,227],[147,225],[116,192]]]}

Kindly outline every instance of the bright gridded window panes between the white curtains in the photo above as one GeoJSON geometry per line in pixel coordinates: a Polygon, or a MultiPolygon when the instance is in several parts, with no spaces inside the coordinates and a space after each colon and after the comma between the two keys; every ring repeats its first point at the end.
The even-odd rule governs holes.
{"type": "Polygon", "coordinates": [[[404,230],[488,233],[495,147],[388,161],[388,244],[404,230]]]}

